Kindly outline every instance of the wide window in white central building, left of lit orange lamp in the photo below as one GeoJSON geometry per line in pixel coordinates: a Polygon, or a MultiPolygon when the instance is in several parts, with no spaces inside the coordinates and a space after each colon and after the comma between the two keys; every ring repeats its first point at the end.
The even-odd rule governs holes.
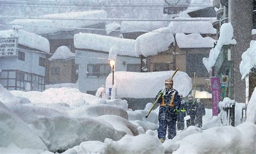
{"type": "Polygon", "coordinates": [[[110,74],[110,66],[107,64],[87,65],[87,76],[107,76],[110,74]]]}

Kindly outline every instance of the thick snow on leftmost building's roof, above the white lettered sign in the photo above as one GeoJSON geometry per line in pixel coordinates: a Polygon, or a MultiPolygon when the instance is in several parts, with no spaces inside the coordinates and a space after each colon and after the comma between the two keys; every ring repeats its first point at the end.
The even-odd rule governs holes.
{"type": "Polygon", "coordinates": [[[18,38],[18,44],[36,48],[37,50],[49,53],[50,44],[48,39],[41,37],[35,33],[26,32],[24,30],[18,29],[14,26],[13,30],[0,31],[0,38],[18,38]]]}

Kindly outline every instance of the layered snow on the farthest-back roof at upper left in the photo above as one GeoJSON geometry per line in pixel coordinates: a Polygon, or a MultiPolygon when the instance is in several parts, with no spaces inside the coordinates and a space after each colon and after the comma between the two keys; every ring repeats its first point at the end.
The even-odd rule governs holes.
{"type": "MultiPolygon", "coordinates": [[[[107,13],[104,10],[81,11],[56,13],[51,15],[44,15],[44,18],[72,18],[72,19],[100,19],[106,18],[107,13]]],[[[23,26],[24,30],[36,34],[49,34],[58,31],[72,31],[77,27],[86,27],[103,23],[101,20],[57,20],[57,19],[16,19],[9,24],[23,26]]]]}

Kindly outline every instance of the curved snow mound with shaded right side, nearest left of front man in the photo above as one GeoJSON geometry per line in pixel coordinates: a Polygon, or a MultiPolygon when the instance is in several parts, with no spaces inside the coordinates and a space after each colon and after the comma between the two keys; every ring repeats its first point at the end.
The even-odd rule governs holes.
{"type": "Polygon", "coordinates": [[[136,136],[139,134],[136,125],[132,124],[123,117],[116,115],[103,115],[98,117],[100,120],[104,120],[110,123],[114,129],[124,131],[126,134],[136,136]]]}

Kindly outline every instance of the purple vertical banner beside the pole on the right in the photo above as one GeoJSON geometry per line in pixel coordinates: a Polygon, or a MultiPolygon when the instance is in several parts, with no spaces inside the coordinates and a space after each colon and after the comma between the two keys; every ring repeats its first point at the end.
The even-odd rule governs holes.
{"type": "Polygon", "coordinates": [[[211,77],[211,91],[212,91],[212,115],[217,116],[219,114],[218,104],[221,101],[220,97],[220,78],[211,77]]]}

